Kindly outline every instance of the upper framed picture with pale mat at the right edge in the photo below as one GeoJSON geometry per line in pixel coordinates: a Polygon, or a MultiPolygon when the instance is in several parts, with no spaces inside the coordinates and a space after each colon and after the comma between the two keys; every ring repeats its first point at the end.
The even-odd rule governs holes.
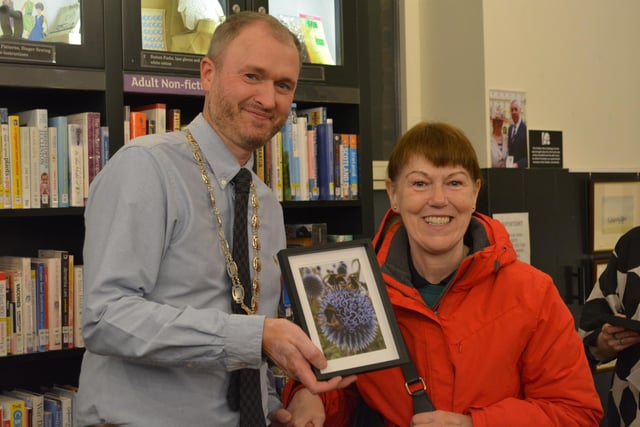
{"type": "Polygon", "coordinates": [[[640,181],[591,181],[591,251],[612,251],[626,231],[640,224],[640,181]]]}

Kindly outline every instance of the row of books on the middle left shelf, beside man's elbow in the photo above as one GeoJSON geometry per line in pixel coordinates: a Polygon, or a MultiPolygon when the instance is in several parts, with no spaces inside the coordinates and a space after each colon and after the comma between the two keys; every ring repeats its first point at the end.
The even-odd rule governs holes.
{"type": "Polygon", "coordinates": [[[84,347],[83,267],[65,250],[0,256],[0,356],[84,347]]]}

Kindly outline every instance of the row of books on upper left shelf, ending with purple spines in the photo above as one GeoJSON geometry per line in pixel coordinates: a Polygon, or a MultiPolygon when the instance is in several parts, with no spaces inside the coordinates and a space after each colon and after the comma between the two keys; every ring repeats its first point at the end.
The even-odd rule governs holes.
{"type": "Polygon", "coordinates": [[[0,108],[0,208],[82,207],[109,157],[99,112],[49,117],[0,108]]]}

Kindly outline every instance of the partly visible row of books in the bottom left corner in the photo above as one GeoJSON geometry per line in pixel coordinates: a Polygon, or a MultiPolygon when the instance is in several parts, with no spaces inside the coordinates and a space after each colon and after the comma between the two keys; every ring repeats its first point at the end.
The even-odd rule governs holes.
{"type": "Polygon", "coordinates": [[[54,385],[40,391],[16,388],[0,393],[2,427],[73,427],[77,388],[54,385]]]}

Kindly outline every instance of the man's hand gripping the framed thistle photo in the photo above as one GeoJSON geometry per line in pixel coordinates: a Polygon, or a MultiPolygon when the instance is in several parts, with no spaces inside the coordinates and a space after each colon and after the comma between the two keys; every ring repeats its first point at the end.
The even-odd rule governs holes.
{"type": "Polygon", "coordinates": [[[287,376],[300,381],[314,394],[346,387],[356,380],[352,375],[318,381],[310,364],[324,369],[327,359],[298,325],[286,319],[264,320],[262,350],[287,376]]]}

